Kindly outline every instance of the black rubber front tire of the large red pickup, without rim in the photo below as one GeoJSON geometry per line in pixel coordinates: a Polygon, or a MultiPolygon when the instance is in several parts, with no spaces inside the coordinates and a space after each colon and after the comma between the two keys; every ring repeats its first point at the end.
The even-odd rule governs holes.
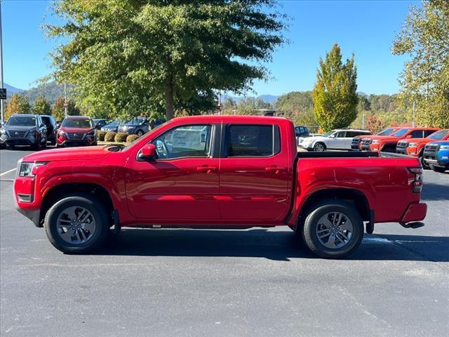
{"type": "MultiPolygon", "coordinates": [[[[89,194],[67,194],[47,211],[43,223],[51,244],[63,253],[81,254],[100,247],[108,237],[109,221],[102,202],[89,194]],[[58,232],[58,217],[69,207],[78,206],[91,212],[95,220],[95,230],[86,242],[71,244],[66,242],[58,232]]],[[[68,232],[68,230],[67,230],[68,232]]]]}

